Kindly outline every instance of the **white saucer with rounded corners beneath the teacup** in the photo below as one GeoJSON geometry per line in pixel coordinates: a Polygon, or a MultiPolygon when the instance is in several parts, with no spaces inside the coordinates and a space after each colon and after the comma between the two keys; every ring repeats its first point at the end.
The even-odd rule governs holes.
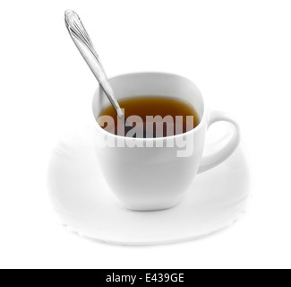
{"type": "Polygon", "coordinates": [[[92,150],[91,128],[65,135],[48,167],[50,196],[69,230],[110,244],[167,244],[205,237],[244,214],[250,171],[242,144],[227,161],[197,176],[175,208],[139,213],[121,207],[107,187],[92,150]]]}

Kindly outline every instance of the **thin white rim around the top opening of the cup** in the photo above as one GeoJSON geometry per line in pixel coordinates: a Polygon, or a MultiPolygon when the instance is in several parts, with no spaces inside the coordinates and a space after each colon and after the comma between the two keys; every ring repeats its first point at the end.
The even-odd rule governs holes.
{"type": "MultiPolygon", "coordinates": [[[[180,75],[180,74],[172,74],[172,73],[164,73],[164,72],[136,72],[136,73],[126,73],[126,74],[117,74],[113,77],[110,77],[108,78],[108,80],[112,80],[112,79],[116,79],[116,78],[121,78],[121,77],[124,77],[124,76],[131,76],[131,75],[136,75],[136,74],[139,74],[139,75],[161,75],[161,74],[164,74],[164,75],[170,75],[170,76],[175,76],[175,77],[179,77],[179,78],[182,78],[184,80],[187,80],[187,81],[190,81],[191,83],[193,83],[192,80],[180,75]]],[[[179,135],[170,135],[170,136],[163,136],[163,137],[149,137],[149,138],[141,138],[141,137],[137,137],[137,138],[133,138],[133,137],[126,137],[124,135],[114,135],[114,134],[111,134],[109,132],[107,132],[105,129],[103,129],[101,126],[98,125],[98,122],[97,122],[97,119],[94,117],[94,113],[92,112],[92,116],[93,116],[93,119],[94,119],[94,122],[99,130],[100,133],[102,133],[103,135],[107,135],[107,136],[111,136],[111,137],[114,137],[116,139],[118,138],[122,138],[126,141],[131,141],[133,140],[134,142],[149,142],[149,141],[153,141],[153,142],[158,142],[158,141],[167,141],[167,140],[171,140],[171,139],[177,139],[177,138],[181,138],[183,136],[188,136],[188,135],[191,135],[191,134],[194,134],[196,132],[198,132],[202,126],[204,125],[204,122],[206,121],[206,115],[207,115],[207,107],[205,105],[205,100],[202,96],[202,93],[200,91],[200,89],[197,87],[197,85],[195,83],[193,83],[193,85],[196,87],[197,91],[199,91],[200,95],[201,95],[201,100],[203,101],[203,114],[202,114],[202,117],[200,119],[200,123],[198,126],[195,126],[192,130],[186,132],[186,133],[183,133],[183,134],[179,134],[179,135]]],[[[94,92],[94,95],[93,95],[93,100],[95,98],[95,95],[97,93],[97,91],[101,89],[100,86],[98,87],[98,89],[94,92]]],[[[93,111],[93,110],[92,110],[93,111]]]]}

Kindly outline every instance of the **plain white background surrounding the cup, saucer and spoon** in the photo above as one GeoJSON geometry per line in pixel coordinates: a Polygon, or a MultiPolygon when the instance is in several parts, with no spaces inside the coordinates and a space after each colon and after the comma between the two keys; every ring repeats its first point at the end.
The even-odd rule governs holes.
{"type": "Polygon", "coordinates": [[[0,267],[291,267],[289,0],[11,0],[0,11],[0,267]],[[67,126],[90,113],[97,84],[64,27],[68,8],[109,76],[182,74],[239,119],[254,175],[243,221],[153,248],[107,246],[59,225],[47,161],[67,126]]]}

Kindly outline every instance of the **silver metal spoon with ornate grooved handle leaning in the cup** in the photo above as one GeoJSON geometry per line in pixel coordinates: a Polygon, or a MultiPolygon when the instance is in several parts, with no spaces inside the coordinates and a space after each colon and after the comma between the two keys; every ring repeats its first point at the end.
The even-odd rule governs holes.
{"type": "Polygon", "coordinates": [[[92,73],[100,83],[103,91],[106,93],[108,100],[110,100],[113,107],[116,109],[118,117],[124,118],[124,112],[120,108],[118,101],[114,95],[114,92],[108,83],[107,74],[99,60],[98,54],[93,46],[93,43],[87,33],[87,30],[83,26],[80,17],[72,10],[67,10],[64,13],[65,25],[75,43],[79,49],[81,56],[89,65],[92,73]]]}

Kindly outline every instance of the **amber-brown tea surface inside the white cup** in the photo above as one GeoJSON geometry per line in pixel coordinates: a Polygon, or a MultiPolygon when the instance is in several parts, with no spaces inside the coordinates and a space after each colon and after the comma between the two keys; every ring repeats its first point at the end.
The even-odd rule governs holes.
{"type": "MultiPolygon", "coordinates": [[[[161,96],[132,97],[119,100],[119,105],[124,109],[126,122],[129,124],[134,122],[133,127],[135,126],[138,131],[149,131],[150,135],[153,135],[150,137],[180,135],[192,130],[200,123],[200,118],[193,106],[186,101],[175,98],[161,96]],[[142,123],[135,124],[135,119],[139,118],[142,119],[142,123]]],[[[107,132],[122,135],[122,132],[120,132],[122,129],[119,129],[118,132],[122,121],[118,120],[116,110],[111,105],[101,111],[98,123],[107,132]],[[112,117],[114,122],[100,120],[103,116],[112,117]]]]}

